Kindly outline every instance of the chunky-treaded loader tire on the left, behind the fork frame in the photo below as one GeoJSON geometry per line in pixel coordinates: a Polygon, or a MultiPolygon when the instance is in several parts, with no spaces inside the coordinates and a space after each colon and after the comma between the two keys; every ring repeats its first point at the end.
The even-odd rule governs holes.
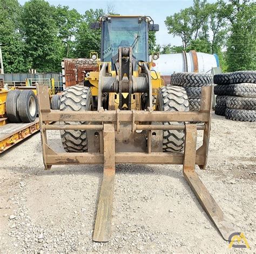
{"type": "MultiPolygon", "coordinates": [[[[92,110],[92,94],[89,87],[71,86],[64,90],[60,99],[60,111],[92,110]]],[[[86,122],[64,122],[66,125],[84,125],[86,122]]],[[[87,152],[88,140],[84,130],[61,130],[62,145],[66,152],[87,152]]]]}

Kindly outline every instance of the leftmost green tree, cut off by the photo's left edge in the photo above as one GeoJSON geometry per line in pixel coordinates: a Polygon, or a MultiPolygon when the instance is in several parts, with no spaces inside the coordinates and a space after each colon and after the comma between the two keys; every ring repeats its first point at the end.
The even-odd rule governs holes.
{"type": "Polygon", "coordinates": [[[0,0],[0,43],[3,53],[4,71],[28,71],[24,57],[25,43],[19,33],[21,5],[17,0],[0,0]]]}

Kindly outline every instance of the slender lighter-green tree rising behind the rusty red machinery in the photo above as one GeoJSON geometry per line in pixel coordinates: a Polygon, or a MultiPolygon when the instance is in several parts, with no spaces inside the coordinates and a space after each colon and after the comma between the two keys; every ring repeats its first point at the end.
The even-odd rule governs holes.
{"type": "Polygon", "coordinates": [[[75,42],[73,38],[76,36],[82,15],[75,9],[69,9],[69,6],[58,5],[54,14],[58,37],[65,45],[65,57],[75,57],[75,42]]]}

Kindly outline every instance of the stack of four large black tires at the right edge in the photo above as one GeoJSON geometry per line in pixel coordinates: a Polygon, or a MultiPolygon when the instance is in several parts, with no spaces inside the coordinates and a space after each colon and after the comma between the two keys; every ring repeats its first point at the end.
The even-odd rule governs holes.
{"type": "Polygon", "coordinates": [[[235,121],[256,121],[256,71],[214,75],[215,114],[235,121]]]}

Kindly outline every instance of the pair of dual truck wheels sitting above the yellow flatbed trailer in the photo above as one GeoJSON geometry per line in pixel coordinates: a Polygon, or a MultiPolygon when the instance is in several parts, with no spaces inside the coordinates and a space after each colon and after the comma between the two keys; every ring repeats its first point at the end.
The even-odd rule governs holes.
{"type": "Polygon", "coordinates": [[[37,98],[32,90],[10,90],[5,101],[9,122],[33,122],[37,116],[37,98]]]}

